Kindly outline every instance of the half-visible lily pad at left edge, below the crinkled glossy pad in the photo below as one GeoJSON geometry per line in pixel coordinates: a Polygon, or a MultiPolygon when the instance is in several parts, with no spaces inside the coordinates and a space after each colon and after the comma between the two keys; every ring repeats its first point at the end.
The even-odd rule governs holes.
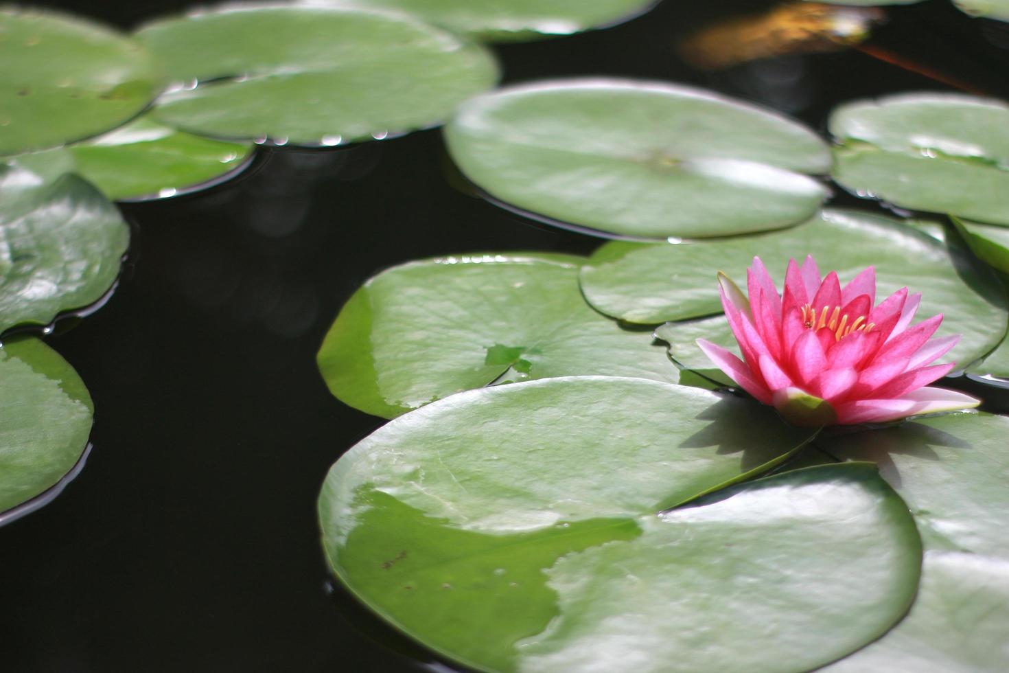
{"type": "Polygon", "coordinates": [[[0,514],[49,488],[88,445],[94,407],[84,382],[34,337],[0,347],[0,514]]]}

